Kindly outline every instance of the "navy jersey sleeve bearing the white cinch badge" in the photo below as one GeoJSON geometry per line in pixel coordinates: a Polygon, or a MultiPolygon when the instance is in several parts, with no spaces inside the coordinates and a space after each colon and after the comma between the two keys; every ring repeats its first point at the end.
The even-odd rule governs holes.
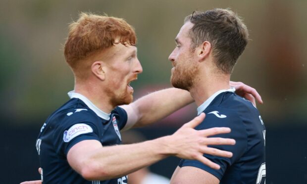
{"type": "Polygon", "coordinates": [[[69,149],[82,140],[100,140],[99,124],[102,125],[101,121],[88,111],[64,117],[54,134],[56,151],[67,156],[69,149]]]}

